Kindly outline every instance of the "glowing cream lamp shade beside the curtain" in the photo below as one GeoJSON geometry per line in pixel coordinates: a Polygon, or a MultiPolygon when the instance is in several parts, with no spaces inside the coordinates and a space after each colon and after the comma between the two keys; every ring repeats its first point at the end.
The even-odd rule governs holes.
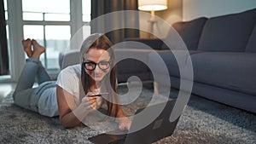
{"type": "Polygon", "coordinates": [[[138,9],[159,11],[167,9],[167,0],[138,0],[138,9]]]}

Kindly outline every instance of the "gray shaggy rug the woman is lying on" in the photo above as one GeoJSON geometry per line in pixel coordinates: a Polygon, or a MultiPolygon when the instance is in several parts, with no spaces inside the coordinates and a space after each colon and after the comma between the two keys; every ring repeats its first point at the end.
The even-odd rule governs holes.
{"type": "MultiPolygon", "coordinates": [[[[119,86],[119,93],[127,88],[119,86]]],[[[151,100],[152,89],[143,88],[137,101],[125,106],[128,114],[145,107],[151,100]]],[[[170,96],[176,96],[173,89],[170,96]]],[[[65,129],[59,118],[48,118],[15,106],[9,94],[0,103],[0,143],[91,143],[88,138],[100,134],[89,127],[65,129]]],[[[218,102],[191,95],[173,135],[154,143],[188,144],[255,144],[256,115],[218,102]]]]}

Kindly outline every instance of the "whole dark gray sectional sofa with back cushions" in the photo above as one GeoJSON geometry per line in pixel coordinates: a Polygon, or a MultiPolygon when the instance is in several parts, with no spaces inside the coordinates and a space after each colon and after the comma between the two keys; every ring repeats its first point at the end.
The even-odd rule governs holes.
{"type": "MultiPolygon", "coordinates": [[[[192,60],[194,70],[192,93],[256,113],[256,9],[239,14],[181,21],[172,26],[189,49],[188,56],[192,60]]],[[[125,42],[136,41],[147,44],[153,48],[154,53],[152,50],[143,49],[143,45],[136,48],[125,46],[130,49],[116,48],[115,52],[119,54],[118,60],[124,54],[142,55],[143,60],[151,66],[149,70],[148,66],[138,60],[119,61],[119,83],[136,75],[142,80],[154,81],[161,87],[166,85],[162,83],[161,78],[170,78],[172,87],[179,89],[180,72],[173,53],[181,49],[173,44],[175,42],[170,37],[172,32],[165,39],[129,38],[125,40],[125,42]],[[168,76],[162,72],[160,61],[157,59],[159,55],[166,63],[168,76]],[[160,78],[154,79],[152,71],[156,72],[160,78]]],[[[78,58],[79,52],[76,53],[78,58]]],[[[66,63],[70,65],[79,62],[74,60],[76,58],[68,58],[69,56],[69,52],[61,53],[61,68],[65,67],[66,63]],[[63,57],[67,57],[67,61],[63,57]],[[68,62],[70,60],[74,62],[68,62]]],[[[191,79],[185,78],[185,80],[191,79]]]]}

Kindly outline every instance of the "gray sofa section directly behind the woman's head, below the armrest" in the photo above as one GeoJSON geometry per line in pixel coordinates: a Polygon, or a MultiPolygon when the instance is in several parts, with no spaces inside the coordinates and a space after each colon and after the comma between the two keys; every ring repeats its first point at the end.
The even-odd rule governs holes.
{"type": "MultiPolygon", "coordinates": [[[[140,60],[147,61],[151,50],[146,49],[125,49],[127,45],[117,45],[119,48],[113,48],[117,62],[118,83],[126,83],[131,76],[137,76],[143,82],[151,81],[151,72],[148,66],[140,60]]],[[[61,69],[79,64],[79,49],[72,49],[59,54],[59,66],[61,69]]]]}

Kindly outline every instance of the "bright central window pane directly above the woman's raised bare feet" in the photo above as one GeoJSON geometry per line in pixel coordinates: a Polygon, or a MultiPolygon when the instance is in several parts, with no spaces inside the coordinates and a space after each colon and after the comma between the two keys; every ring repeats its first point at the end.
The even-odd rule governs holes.
{"type": "Polygon", "coordinates": [[[71,38],[67,23],[70,21],[70,1],[22,0],[22,20],[26,23],[24,38],[34,38],[46,48],[44,56],[40,57],[46,69],[59,69],[59,53],[67,48],[71,38]]]}

